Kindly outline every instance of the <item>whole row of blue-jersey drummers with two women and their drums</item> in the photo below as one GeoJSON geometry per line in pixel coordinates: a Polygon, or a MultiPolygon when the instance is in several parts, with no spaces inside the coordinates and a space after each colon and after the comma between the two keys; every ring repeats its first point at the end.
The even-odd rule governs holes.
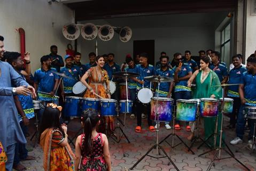
{"type": "MultiPolygon", "coordinates": [[[[182,129],[180,121],[185,121],[185,130],[191,133],[188,139],[192,139],[197,116],[204,118],[207,138],[214,132],[215,122],[220,122],[219,119],[216,121],[217,116],[229,113],[228,127],[236,128],[237,135],[230,143],[235,145],[243,142],[248,121],[248,139],[252,144],[256,119],[255,54],[247,58],[246,67],[242,64],[241,55],[232,57],[228,73],[226,64],[220,61],[220,53],[212,50],[199,51],[196,61],[192,59],[190,51],[185,51],[184,57],[181,53],[175,53],[172,62],[165,52],[161,52],[156,67],[149,64],[147,53],[137,55],[135,60],[126,56],[121,67],[114,62],[113,53],[96,56],[91,52],[89,63],[82,65],[81,53],[75,52],[64,57],[65,66],[63,58],[57,53],[57,46],[53,45],[50,55],[41,57],[41,68],[34,73],[34,88],[38,100],[45,104],[59,103],[64,107],[64,116],[68,118],[81,116],[81,111],[94,108],[104,116],[99,131],[111,131],[114,129],[113,116],[118,112],[129,113],[130,118],[137,119],[136,133],[142,130],[142,118],[147,118],[148,129],[154,132],[158,127],[155,122],[157,111],[166,129],[171,129],[169,123],[173,119],[175,130],[182,129]],[[121,71],[135,73],[136,76],[131,75],[126,85],[125,76],[115,74],[121,71]],[[168,77],[169,81],[157,84],[145,79],[149,76],[168,77]],[[226,90],[223,108],[220,105],[222,87],[226,90]],[[127,108],[124,107],[126,104],[127,108]],[[118,110],[117,106],[120,106],[118,110]]],[[[25,71],[29,69],[29,63],[26,62],[25,71]]],[[[26,112],[20,116],[20,120],[32,118],[33,105],[27,105],[31,104],[32,99],[21,98],[20,101],[22,107],[28,106],[23,108],[26,112]]],[[[41,107],[38,109],[42,111],[41,107]]]]}

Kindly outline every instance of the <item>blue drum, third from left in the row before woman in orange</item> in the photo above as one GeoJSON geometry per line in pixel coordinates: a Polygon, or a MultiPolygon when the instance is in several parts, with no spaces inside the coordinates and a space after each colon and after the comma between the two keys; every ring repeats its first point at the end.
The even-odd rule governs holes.
{"type": "Polygon", "coordinates": [[[100,113],[103,116],[117,115],[115,107],[117,106],[117,100],[114,99],[100,99],[100,113]]]}

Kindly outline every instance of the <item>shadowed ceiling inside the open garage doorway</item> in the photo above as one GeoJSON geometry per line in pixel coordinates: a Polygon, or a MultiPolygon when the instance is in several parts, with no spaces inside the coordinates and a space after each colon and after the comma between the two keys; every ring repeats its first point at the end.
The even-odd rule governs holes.
{"type": "MultiPolygon", "coordinates": [[[[218,26],[227,17],[228,12],[188,13],[147,15],[138,17],[122,17],[100,20],[82,21],[80,24],[92,22],[95,25],[110,24],[115,27],[129,26],[131,28],[152,27],[185,27],[185,26],[218,26]]],[[[139,14],[138,14],[139,15],[139,14]]]]}

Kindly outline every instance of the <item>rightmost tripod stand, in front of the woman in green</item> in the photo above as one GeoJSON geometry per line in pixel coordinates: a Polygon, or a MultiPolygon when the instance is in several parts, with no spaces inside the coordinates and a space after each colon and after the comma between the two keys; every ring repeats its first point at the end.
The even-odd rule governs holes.
{"type": "MultiPolygon", "coordinates": [[[[232,151],[229,149],[227,143],[226,143],[226,142],[224,141],[224,139],[222,138],[222,133],[223,133],[223,114],[224,114],[224,111],[223,111],[223,108],[224,108],[224,89],[225,89],[225,88],[226,88],[226,87],[222,87],[220,142],[219,142],[219,146],[216,147],[215,149],[213,149],[213,150],[216,150],[216,152],[215,152],[214,157],[213,157],[213,159],[212,159],[212,162],[211,162],[211,164],[208,166],[207,170],[210,170],[211,167],[214,166],[214,161],[215,161],[215,160],[223,160],[223,159],[228,159],[228,158],[234,158],[239,164],[241,164],[244,168],[246,168],[247,170],[250,171],[250,169],[249,169],[248,167],[246,167],[241,161],[239,161],[239,160],[234,156],[234,154],[232,153],[232,151]],[[222,146],[221,146],[221,145],[222,145],[222,142],[227,146],[227,148],[228,148],[229,151],[222,148],[222,146]],[[226,152],[229,154],[230,157],[221,158],[221,150],[222,150],[222,149],[223,149],[224,151],[226,151],[226,152]]],[[[217,120],[217,122],[218,122],[218,120],[217,120]]],[[[213,150],[210,150],[210,151],[208,151],[208,152],[211,152],[211,151],[213,151],[213,150]]],[[[205,152],[205,153],[203,153],[203,154],[206,154],[206,153],[208,153],[208,152],[205,152]]],[[[202,156],[203,154],[200,154],[199,156],[202,156]]]]}

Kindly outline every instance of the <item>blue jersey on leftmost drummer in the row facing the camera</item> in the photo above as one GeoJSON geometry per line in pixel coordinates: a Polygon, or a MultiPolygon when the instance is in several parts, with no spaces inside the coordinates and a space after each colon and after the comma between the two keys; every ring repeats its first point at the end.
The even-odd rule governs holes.
{"type": "MultiPolygon", "coordinates": [[[[35,71],[34,81],[38,84],[38,91],[47,93],[53,91],[55,81],[59,80],[59,76],[52,71],[56,72],[56,69],[50,68],[48,71],[44,71],[43,68],[39,68],[35,71]]],[[[38,99],[49,101],[54,99],[54,97],[51,95],[38,93],[38,99]]]]}

